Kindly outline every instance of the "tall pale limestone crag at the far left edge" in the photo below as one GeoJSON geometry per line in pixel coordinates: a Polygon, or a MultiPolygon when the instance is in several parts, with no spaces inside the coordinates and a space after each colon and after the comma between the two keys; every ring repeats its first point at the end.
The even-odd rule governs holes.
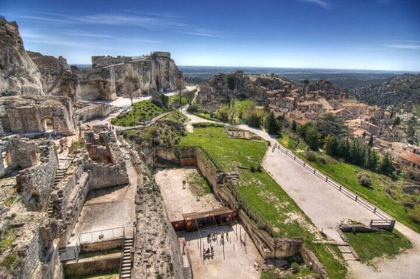
{"type": "Polygon", "coordinates": [[[0,94],[44,95],[41,74],[26,53],[16,22],[0,16],[0,94]]]}

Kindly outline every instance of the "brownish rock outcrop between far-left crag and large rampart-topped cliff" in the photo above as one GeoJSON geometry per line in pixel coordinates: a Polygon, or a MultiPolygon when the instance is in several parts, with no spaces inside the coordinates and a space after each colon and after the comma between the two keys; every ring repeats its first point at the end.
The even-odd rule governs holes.
{"type": "Polygon", "coordinates": [[[39,52],[27,51],[29,57],[41,72],[44,91],[51,95],[80,99],[79,79],[62,56],[42,55],[39,52]]]}

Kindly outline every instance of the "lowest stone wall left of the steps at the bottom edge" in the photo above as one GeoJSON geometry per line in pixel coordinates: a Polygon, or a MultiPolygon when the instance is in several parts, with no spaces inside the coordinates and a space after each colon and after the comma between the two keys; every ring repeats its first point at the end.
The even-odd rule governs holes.
{"type": "Polygon", "coordinates": [[[65,264],[65,278],[72,279],[78,278],[80,276],[94,275],[99,272],[118,270],[120,262],[120,254],[95,260],[79,260],[78,262],[67,262],[65,264]]]}

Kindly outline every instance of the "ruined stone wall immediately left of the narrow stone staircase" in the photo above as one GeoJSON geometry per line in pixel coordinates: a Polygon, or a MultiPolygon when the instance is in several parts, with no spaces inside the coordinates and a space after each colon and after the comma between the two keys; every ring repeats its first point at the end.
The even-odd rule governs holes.
{"type": "Polygon", "coordinates": [[[40,163],[26,168],[16,176],[22,202],[28,210],[44,211],[47,207],[58,158],[54,144],[47,142],[40,163]]]}

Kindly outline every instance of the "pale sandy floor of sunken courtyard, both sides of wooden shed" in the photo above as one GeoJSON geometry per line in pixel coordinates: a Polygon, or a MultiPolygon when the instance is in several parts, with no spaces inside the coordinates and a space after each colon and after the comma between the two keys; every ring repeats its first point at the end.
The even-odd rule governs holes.
{"type": "MultiPolygon", "coordinates": [[[[197,201],[194,191],[191,191],[188,185],[188,177],[192,173],[198,173],[197,169],[159,169],[155,174],[155,180],[160,187],[171,220],[181,220],[182,212],[200,212],[222,206],[212,194],[203,195],[200,201],[197,201]],[[187,185],[185,189],[182,189],[184,179],[187,185]]],[[[188,249],[190,253],[195,278],[257,279],[261,275],[254,264],[262,266],[262,257],[249,236],[245,237],[245,235],[247,235],[245,229],[240,224],[236,224],[233,227],[219,226],[200,232],[178,232],[178,240],[181,243],[181,250],[183,241],[187,243],[185,249],[188,249]],[[217,233],[217,240],[208,241],[207,234],[213,232],[217,233]],[[223,243],[220,242],[221,232],[228,232],[229,235],[228,239],[225,237],[223,243]],[[242,241],[246,239],[246,246],[242,244],[241,239],[242,241]],[[210,243],[214,249],[214,257],[209,256],[203,260],[203,245],[207,249],[210,248],[210,243]]]]}

